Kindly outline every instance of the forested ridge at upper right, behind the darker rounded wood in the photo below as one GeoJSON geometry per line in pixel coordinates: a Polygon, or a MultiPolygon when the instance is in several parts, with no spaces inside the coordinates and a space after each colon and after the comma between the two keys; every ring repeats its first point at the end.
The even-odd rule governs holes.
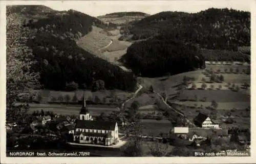
{"type": "Polygon", "coordinates": [[[132,40],[164,33],[201,48],[238,50],[238,46],[250,45],[250,12],[215,8],[198,13],[161,12],[133,23],[129,33],[132,40]]]}

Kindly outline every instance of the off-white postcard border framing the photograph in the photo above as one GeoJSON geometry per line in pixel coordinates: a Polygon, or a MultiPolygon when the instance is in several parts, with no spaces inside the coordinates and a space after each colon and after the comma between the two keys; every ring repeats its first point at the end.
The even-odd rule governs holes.
{"type": "MultiPolygon", "coordinates": [[[[217,1],[217,0],[215,0],[217,1]]],[[[225,1],[225,0],[222,0],[225,1]]],[[[228,1],[228,0],[227,0],[228,1]]],[[[250,157],[6,157],[6,130],[5,130],[5,111],[6,111],[6,5],[36,5],[42,2],[49,1],[0,1],[0,36],[1,36],[1,60],[0,60],[0,91],[2,93],[0,98],[1,104],[1,163],[253,163],[256,161],[255,142],[251,142],[251,156],[250,157]]],[[[81,3],[82,1],[65,1],[65,3],[81,3]]],[[[101,3],[106,1],[101,1],[101,3]]],[[[130,5],[138,1],[128,1],[130,5]]],[[[139,3],[141,3],[140,1],[139,3]]],[[[232,2],[232,1],[231,1],[232,2]]],[[[243,3],[243,1],[240,1],[243,3]]],[[[62,3],[61,1],[52,1],[56,5],[62,3]]],[[[88,1],[87,1],[88,3],[88,1]]],[[[92,3],[100,3],[100,1],[92,1],[92,3]]],[[[118,3],[118,1],[112,1],[118,3]]],[[[150,1],[143,1],[143,3],[150,3],[150,1]]],[[[159,2],[160,3],[160,2],[159,2]]],[[[164,3],[164,1],[161,1],[164,3]]],[[[189,6],[188,6],[189,7],[189,6]]],[[[256,70],[254,62],[256,62],[256,0],[251,0],[251,140],[256,141],[255,123],[252,118],[255,112],[256,96],[254,95],[256,84],[256,70]],[[254,45],[254,46],[253,46],[254,45]]]]}

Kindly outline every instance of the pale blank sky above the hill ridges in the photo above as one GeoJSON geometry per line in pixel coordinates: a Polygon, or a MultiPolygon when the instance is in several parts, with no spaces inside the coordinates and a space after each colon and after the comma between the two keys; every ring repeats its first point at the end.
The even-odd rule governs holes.
{"type": "MultiPolygon", "coordinates": [[[[208,8],[232,8],[250,11],[253,0],[180,0],[180,1],[13,1],[14,4],[45,5],[54,10],[73,9],[91,16],[113,12],[140,11],[156,14],[162,11],[199,12],[208,8]]],[[[8,2],[9,3],[9,2],[8,2]]]]}

